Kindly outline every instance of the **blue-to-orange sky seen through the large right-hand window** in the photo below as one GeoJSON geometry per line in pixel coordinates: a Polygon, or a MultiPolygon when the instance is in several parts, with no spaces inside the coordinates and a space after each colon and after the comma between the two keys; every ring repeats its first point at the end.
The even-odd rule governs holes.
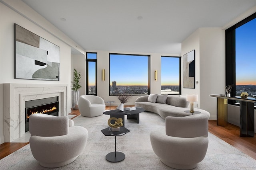
{"type": "Polygon", "coordinates": [[[236,85],[256,85],[256,18],[236,29],[236,85]]]}

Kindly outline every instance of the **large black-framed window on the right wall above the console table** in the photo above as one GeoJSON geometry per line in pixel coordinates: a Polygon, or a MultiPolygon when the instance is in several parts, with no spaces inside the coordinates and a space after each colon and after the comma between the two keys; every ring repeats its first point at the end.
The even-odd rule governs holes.
{"type": "Polygon", "coordinates": [[[256,97],[256,13],[226,30],[226,85],[256,97]]]}

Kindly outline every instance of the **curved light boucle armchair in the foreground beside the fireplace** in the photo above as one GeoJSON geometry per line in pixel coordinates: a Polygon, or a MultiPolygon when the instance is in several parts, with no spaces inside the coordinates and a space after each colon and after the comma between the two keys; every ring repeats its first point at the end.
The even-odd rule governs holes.
{"type": "Polygon", "coordinates": [[[88,131],[73,126],[68,116],[32,114],[29,117],[29,139],[32,155],[41,166],[56,168],[67,165],[82,153],[88,131]]]}

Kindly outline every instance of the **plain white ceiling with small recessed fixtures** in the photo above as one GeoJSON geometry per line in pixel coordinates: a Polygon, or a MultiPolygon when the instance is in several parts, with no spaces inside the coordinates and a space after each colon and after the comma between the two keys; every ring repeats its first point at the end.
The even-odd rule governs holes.
{"type": "Polygon", "coordinates": [[[22,1],[85,51],[178,55],[196,29],[223,27],[256,6],[256,0],[22,1]]]}

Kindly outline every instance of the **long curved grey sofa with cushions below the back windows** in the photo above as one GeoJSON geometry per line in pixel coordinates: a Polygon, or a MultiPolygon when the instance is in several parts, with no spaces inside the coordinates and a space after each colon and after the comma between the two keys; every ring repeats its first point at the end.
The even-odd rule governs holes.
{"type": "MultiPolygon", "coordinates": [[[[137,98],[135,100],[135,107],[142,107],[145,109],[145,111],[157,113],[163,119],[165,119],[167,116],[184,117],[191,115],[191,113],[184,112],[189,110],[189,102],[186,101],[185,97],[160,94],[153,95],[150,94],[148,96],[141,96],[137,98]],[[156,100],[154,100],[154,98],[153,100],[149,100],[149,98],[151,98],[153,95],[157,96],[156,100]],[[165,98],[166,100],[164,100],[165,98]]],[[[195,111],[208,113],[205,110],[196,108],[195,111]]]]}

